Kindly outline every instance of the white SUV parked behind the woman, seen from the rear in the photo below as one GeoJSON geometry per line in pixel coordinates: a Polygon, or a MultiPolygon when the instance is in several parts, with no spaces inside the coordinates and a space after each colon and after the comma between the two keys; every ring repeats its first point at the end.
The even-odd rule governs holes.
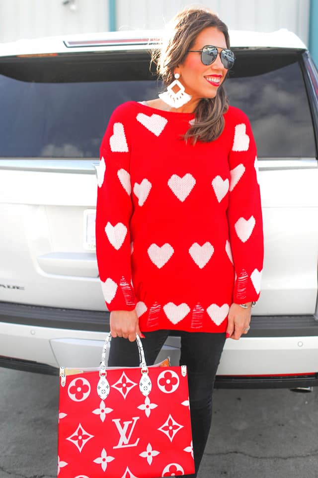
{"type": "MultiPolygon", "coordinates": [[[[155,98],[149,37],[115,32],[0,45],[0,365],[98,366],[109,330],[95,256],[99,144],[114,108],[155,98]]],[[[292,33],[231,32],[225,86],[258,147],[265,233],[251,330],[216,386],[318,383],[318,74],[292,33]]],[[[178,361],[179,338],[161,356],[178,361]]]]}

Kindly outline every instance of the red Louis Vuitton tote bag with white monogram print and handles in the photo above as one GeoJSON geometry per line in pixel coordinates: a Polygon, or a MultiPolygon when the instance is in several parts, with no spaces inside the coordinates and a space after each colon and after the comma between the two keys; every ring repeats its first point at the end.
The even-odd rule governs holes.
{"type": "Polygon", "coordinates": [[[60,371],[59,478],[194,473],[186,366],[60,371]]]}

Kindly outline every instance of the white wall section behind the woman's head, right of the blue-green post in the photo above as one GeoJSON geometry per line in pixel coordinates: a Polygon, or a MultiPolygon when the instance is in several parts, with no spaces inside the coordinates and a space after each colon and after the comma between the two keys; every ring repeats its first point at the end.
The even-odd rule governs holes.
{"type": "Polygon", "coordinates": [[[288,28],[308,44],[310,0],[117,0],[117,29],[161,28],[185,6],[207,6],[232,30],[288,28]]]}

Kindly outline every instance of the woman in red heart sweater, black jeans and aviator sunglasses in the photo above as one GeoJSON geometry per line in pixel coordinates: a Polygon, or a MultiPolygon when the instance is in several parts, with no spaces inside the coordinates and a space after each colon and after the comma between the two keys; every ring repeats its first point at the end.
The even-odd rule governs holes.
{"type": "Polygon", "coordinates": [[[100,148],[96,251],[114,337],[108,365],[138,365],[136,334],[152,364],[169,331],[179,331],[196,473],[224,343],[248,332],[263,263],[256,147],[223,89],[229,47],[211,11],[181,11],[157,60],[167,91],[120,105],[100,148]]]}

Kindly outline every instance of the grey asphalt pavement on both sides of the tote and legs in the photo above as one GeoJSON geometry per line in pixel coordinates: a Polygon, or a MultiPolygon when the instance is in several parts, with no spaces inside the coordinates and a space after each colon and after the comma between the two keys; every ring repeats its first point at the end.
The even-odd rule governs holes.
{"type": "MultiPolygon", "coordinates": [[[[0,478],[57,476],[59,378],[0,368],[0,478]]],[[[317,478],[318,389],[215,390],[198,478],[317,478]]]]}

